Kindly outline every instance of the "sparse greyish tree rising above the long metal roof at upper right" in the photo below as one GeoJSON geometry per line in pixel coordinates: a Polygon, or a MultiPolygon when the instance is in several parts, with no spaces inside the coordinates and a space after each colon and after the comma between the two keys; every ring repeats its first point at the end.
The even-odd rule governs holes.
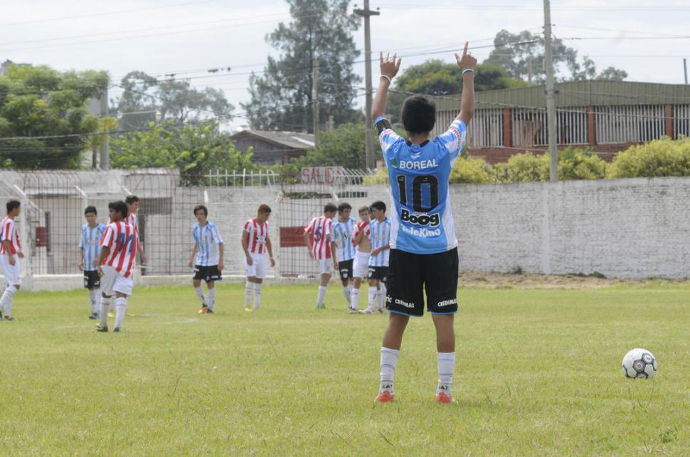
{"type": "MultiPolygon", "coordinates": [[[[609,67],[597,73],[594,61],[588,57],[578,60],[578,51],[568,48],[559,38],[553,38],[553,66],[558,80],[607,79],[622,81],[627,72],[609,67]]],[[[529,84],[543,84],[546,81],[544,72],[544,38],[530,31],[510,33],[501,30],[494,38],[496,48],[489,54],[484,63],[500,65],[511,77],[525,80],[529,84]]]]}

